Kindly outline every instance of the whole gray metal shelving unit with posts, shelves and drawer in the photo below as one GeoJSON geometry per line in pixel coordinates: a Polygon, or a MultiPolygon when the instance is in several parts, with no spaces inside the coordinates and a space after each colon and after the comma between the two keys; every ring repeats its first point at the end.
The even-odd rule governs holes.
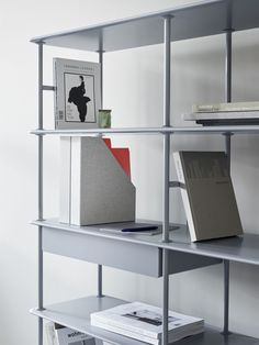
{"type": "MultiPolygon", "coordinates": [[[[171,42],[201,36],[224,34],[225,101],[232,101],[232,35],[233,32],[259,27],[258,0],[202,1],[142,16],[108,22],[79,30],[61,32],[33,38],[38,45],[38,129],[32,131],[38,137],[38,305],[32,313],[38,316],[38,345],[43,345],[43,319],[86,332],[111,344],[137,345],[143,342],[92,327],[89,315],[124,301],[104,297],[102,293],[102,265],[136,271],[153,277],[162,277],[162,345],[168,344],[168,296],[169,275],[193,268],[224,265],[224,329],[206,326],[203,335],[177,342],[184,345],[259,345],[259,340],[229,333],[229,261],[259,265],[259,236],[245,234],[243,237],[190,243],[187,227],[169,233],[169,190],[177,183],[169,180],[170,138],[177,134],[224,135],[230,169],[230,137],[234,134],[258,134],[259,126],[174,127],[170,125],[170,56],[171,42]],[[97,52],[101,64],[104,53],[137,48],[145,45],[164,44],[164,122],[161,127],[130,127],[111,130],[53,131],[43,127],[43,93],[53,91],[53,86],[43,85],[43,47],[54,45],[97,52]],[[43,138],[45,135],[95,135],[95,134],[154,134],[164,140],[162,179],[162,234],[151,237],[108,234],[98,226],[72,226],[43,216],[43,138]],[[70,244],[74,245],[70,245],[70,244]],[[105,246],[105,251],[92,251],[105,246]],[[75,249],[76,248],[76,249],[75,249]],[[120,260],[112,252],[117,251],[120,260]],[[55,253],[98,264],[98,296],[74,300],[50,307],[43,303],[43,254],[55,253]],[[134,253],[142,260],[128,260],[125,253],[134,253]],[[142,265],[139,265],[139,261],[142,265]],[[150,261],[153,265],[150,265],[150,261]],[[149,265],[148,265],[149,264],[149,265]],[[151,266],[151,267],[150,267],[151,266]]],[[[102,86],[102,82],[101,82],[102,86]]]]}

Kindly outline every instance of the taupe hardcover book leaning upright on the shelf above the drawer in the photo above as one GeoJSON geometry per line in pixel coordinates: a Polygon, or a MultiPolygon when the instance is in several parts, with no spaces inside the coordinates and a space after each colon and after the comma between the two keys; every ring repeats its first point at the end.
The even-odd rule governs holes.
{"type": "Polygon", "coordinates": [[[224,152],[173,153],[191,241],[243,234],[224,152]]]}

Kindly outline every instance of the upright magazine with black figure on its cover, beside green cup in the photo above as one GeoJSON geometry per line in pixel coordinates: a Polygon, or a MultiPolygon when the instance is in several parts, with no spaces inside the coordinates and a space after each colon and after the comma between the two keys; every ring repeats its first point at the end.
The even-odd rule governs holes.
{"type": "Polygon", "coordinates": [[[55,129],[95,129],[101,108],[100,64],[54,58],[55,129]]]}

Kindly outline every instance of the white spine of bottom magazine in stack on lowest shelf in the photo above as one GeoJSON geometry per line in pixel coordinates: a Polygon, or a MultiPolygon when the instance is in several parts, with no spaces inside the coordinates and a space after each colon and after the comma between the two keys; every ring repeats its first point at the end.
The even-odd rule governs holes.
{"type": "Polygon", "coordinates": [[[106,331],[110,331],[110,332],[114,332],[114,333],[117,333],[117,334],[121,334],[124,336],[128,336],[128,337],[142,341],[142,342],[148,343],[148,344],[154,344],[154,345],[160,344],[159,340],[151,338],[151,337],[145,336],[143,334],[132,332],[131,330],[121,329],[117,326],[110,325],[108,323],[99,322],[97,320],[91,321],[91,325],[106,330],[106,331]]]}

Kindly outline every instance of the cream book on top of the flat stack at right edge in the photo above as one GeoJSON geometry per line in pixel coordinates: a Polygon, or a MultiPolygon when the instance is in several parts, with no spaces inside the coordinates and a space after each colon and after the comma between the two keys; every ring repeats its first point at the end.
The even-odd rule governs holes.
{"type": "Polygon", "coordinates": [[[228,102],[214,104],[194,104],[193,112],[238,112],[259,111],[259,102],[228,102]]]}

